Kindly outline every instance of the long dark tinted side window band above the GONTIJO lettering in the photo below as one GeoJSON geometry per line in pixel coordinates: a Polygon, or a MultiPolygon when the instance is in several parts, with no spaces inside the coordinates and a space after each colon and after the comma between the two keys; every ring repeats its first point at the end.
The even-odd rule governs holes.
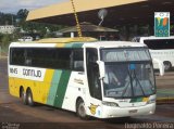
{"type": "Polygon", "coordinates": [[[75,69],[74,62],[78,61],[76,65],[83,70],[83,50],[78,50],[79,49],[11,48],[10,64],[54,69],[75,69]]]}

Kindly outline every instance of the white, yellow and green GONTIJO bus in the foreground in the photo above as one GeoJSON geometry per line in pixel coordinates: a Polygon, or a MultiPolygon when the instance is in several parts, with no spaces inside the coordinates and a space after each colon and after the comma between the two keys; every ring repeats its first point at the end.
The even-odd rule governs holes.
{"type": "Polygon", "coordinates": [[[10,94],[30,106],[41,103],[83,119],[156,111],[156,80],[146,44],[91,38],[12,42],[8,64],[10,94]]]}

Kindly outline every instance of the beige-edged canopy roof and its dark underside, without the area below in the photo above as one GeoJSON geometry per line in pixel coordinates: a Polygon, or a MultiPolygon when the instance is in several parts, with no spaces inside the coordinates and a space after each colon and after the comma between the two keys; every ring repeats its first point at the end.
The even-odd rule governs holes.
{"type": "MultiPolygon", "coordinates": [[[[99,24],[98,11],[107,9],[104,26],[122,24],[153,24],[154,12],[171,12],[174,0],[74,0],[79,22],[99,24]]],[[[71,1],[29,11],[27,21],[58,25],[75,25],[71,1]]],[[[173,22],[173,18],[172,18],[173,22]]]]}

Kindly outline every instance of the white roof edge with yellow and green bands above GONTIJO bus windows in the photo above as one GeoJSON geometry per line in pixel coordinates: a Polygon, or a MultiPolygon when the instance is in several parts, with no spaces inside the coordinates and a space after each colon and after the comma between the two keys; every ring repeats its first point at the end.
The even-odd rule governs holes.
{"type": "Polygon", "coordinates": [[[21,42],[12,42],[10,47],[13,48],[129,48],[129,47],[147,47],[144,43],[138,42],[129,42],[129,41],[73,41],[73,42],[65,42],[62,43],[42,43],[42,42],[35,42],[35,43],[21,43],[21,42]]]}

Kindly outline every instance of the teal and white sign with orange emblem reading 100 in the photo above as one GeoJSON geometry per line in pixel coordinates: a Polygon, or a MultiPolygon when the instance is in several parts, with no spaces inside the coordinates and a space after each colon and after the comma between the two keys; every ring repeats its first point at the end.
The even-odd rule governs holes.
{"type": "Polygon", "coordinates": [[[170,12],[154,13],[154,35],[157,37],[170,36],[170,12]]]}

